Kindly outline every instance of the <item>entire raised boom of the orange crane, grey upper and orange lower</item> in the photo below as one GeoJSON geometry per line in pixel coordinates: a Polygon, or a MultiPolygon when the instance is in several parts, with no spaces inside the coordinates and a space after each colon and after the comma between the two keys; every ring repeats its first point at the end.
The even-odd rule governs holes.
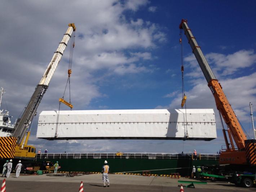
{"type": "MultiPolygon", "coordinates": [[[[237,144],[239,149],[243,149],[245,147],[244,140],[246,140],[246,135],[244,134],[241,125],[235,115],[231,105],[229,104],[226,95],[224,94],[222,87],[218,80],[215,78],[206,58],[204,57],[200,46],[198,46],[195,37],[193,36],[190,28],[187,25],[187,20],[182,19],[180,29],[183,29],[187,39],[189,40],[189,44],[192,48],[192,51],[197,58],[197,61],[203,71],[203,74],[208,82],[208,86],[211,89],[213,96],[215,98],[217,109],[220,110],[223,119],[225,120],[228,128],[231,131],[233,139],[237,144]]],[[[229,146],[227,146],[229,149],[229,146]]]]}

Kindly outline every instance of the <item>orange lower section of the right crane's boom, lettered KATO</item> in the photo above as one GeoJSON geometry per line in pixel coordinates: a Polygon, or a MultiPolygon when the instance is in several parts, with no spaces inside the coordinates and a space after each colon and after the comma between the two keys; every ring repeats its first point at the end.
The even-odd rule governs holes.
{"type": "Polygon", "coordinates": [[[226,98],[226,95],[224,94],[220,83],[218,82],[218,80],[213,79],[209,82],[208,86],[212,90],[217,109],[220,111],[226,125],[230,129],[234,141],[237,144],[237,148],[244,148],[244,140],[247,139],[246,135],[244,134],[237,119],[237,116],[235,115],[235,112],[229,104],[229,101],[226,98]]]}

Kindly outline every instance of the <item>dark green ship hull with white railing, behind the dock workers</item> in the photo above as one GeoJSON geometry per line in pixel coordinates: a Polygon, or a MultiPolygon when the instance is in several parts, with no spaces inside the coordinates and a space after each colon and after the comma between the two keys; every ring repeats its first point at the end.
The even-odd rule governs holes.
{"type": "Polygon", "coordinates": [[[219,165],[218,154],[179,153],[40,153],[35,162],[54,164],[58,161],[59,171],[92,172],[101,171],[103,162],[107,160],[110,173],[115,174],[150,174],[190,176],[193,166],[219,165]]]}

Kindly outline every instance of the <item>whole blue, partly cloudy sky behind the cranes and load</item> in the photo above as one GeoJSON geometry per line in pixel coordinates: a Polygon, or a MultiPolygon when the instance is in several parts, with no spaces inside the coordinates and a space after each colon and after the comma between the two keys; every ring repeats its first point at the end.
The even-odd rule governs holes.
{"type": "MultiPolygon", "coordinates": [[[[188,20],[193,35],[239,120],[252,137],[249,102],[256,103],[255,1],[2,1],[0,86],[2,108],[13,121],[48,66],[68,23],[77,27],[71,76],[74,110],[180,108],[181,51],[178,25],[188,20]]],[[[215,101],[191,48],[184,42],[187,108],[213,108],[217,136],[211,142],[163,140],[46,141],[29,143],[49,152],[216,153],[225,144],[215,101]],[[184,146],[184,147],[183,147],[184,146]]],[[[69,50],[38,108],[57,110],[69,50]]],[[[256,104],[255,104],[256,105],[256,104]]],[[[68,110],[61,106],[62,110],[68,110]]],[[[256,110],[255,110],[256,111],[256,110]]]]}

